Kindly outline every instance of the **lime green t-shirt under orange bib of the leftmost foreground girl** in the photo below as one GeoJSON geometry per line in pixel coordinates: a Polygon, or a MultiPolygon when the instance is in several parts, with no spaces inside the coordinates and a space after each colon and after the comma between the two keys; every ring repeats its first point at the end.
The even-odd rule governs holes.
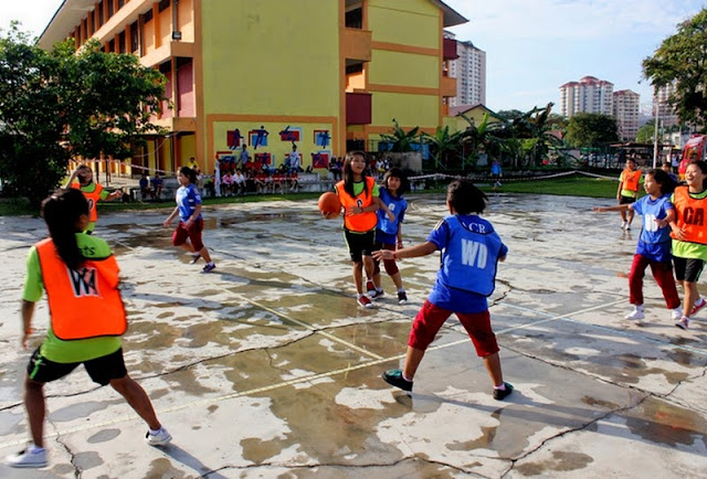
{"type": "MultiPolygon", "coordinates": [[[[110,255],[110,246],[99,237],[77,233],[76,242],[83,255],[87,258],[105,258],[110,255]]],[[[32,246],[27,257],[27,277],[24,278],[22,299],[36,302],[42,298],[43,292],[44,281],[42,280],[40,256],[36,253],[36,247],[32,246]]],[[[44,358],[57,363],[74,363],[110,354],[117,351],[120,344],[119,337],[62,341],[54,336],[50,322],[46,339],[42,343],[40,352],[44,358]]]]}

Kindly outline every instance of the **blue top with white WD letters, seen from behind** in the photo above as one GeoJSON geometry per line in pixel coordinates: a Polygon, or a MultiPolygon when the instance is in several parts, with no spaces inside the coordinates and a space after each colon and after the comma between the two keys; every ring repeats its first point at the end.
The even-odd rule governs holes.
{"type": "Polygon", "coordinates": [[[487,310],[496,265],[508,253],[494,226],[477,215],[452,215],[437,223],[428,241],[442,251],[430,302],[454,312],[487,310]]]}

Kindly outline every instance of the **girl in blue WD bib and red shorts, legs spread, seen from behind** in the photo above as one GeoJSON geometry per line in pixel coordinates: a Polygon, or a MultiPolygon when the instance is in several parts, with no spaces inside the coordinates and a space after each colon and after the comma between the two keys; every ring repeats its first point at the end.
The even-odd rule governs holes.
{"type": "Polygon", "coordinates": [[[496,266],[506,258],[508,248],[494,226],[478,216],[486,207],[486,194],[471,182],[452,182],[446,205],[451,215],[437,223],[426,242],[395,252],[373,252],[377,260],[442,252],[436,283],[410,331],[405,365],[402,370],[386,371],[382,377],[388,384],[412,391],[412,380],[425,350],[444,321],[455,313],[484,360],[493,381],[494,398],[503,400],[513,392],[513,386],[504,382],[486,298],[494,291],[496,266]]]}

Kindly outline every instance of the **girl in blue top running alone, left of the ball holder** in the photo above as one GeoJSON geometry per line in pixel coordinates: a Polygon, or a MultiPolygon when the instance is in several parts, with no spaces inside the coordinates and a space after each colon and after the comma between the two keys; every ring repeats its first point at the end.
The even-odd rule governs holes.
{"type": "Polygon", "coordinates": [[[169,227],[175,216],[179,215],[180,222],[172,235],[172,245],[181,246],[192,254],[191,263],[197,263],[200,257],[207,262],[201,273],[211,273],[217,265],[211,260],[209,249],[201,242],[203,219],[201,217],[201,194],[197,189],[197,173],[189,167],[182,167],[177,175],[179,190],[177,190],[177,206],[172,214],[165,220],[165,226],[169,227]],[[189,240],[189,241],[188,241],[189,240]]]}

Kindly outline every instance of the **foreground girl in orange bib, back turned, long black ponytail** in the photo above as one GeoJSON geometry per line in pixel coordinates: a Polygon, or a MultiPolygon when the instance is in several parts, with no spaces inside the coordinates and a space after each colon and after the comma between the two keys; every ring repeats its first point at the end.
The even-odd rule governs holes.
{"type": "Polygon", "coordinates": [[[110,384],[147,423],[149,445],[166,445],[172,437],[123,361],[120,336],[127,329],[127,318],[118,289],[118,264],[105,241],[81,234],[91,222],[88,202],[78,190],[59,190],[44,200],[42,212],[50,237],[36,243],[28,257],[22,347],[28,348],[34,305],[44,289],[51,322],[24,376],[24,407],[33,444],[10,456],[9,465],[46,466],[44,384],[64,377],[80,364],[94,382],[110,384]]]}

